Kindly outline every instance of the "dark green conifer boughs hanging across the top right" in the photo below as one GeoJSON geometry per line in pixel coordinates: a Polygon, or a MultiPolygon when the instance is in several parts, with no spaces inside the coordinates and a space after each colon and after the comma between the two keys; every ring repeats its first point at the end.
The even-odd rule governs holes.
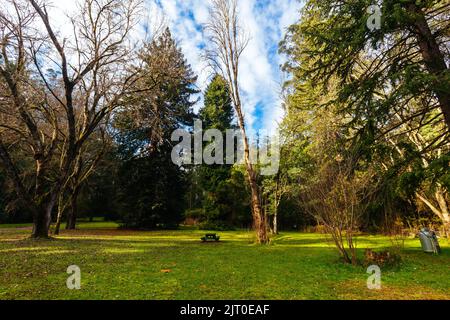
{"type": "MultiPolygon", "coordinates": [[[[371,4],[368,0],[307,1],[300,22],[290,27],[281,43],[281,51],[290,57],[284,68],[294,76],[289,83],[296,89],[291,99],[305,93],[307,86],[325,93],[335,78],[337,95],[322,104],[342,104],[339,111],[362,132],[383,126],[412,98],[433,99],[435,94],[450,92],[448,70],[439,75],[433,71],[423,58],[428,53],[417,46],[420,35],[413,31],[421,19],[429,19],[425,22],[436,42],[445,43],[448,21],[436,14],[432,22],[428,14],[442,11],[442,3],[383,1],[381,29],[374,31],[366,26],[371,4]]],[[[424,105],[420,110],[432,109],[424,105]]]]}

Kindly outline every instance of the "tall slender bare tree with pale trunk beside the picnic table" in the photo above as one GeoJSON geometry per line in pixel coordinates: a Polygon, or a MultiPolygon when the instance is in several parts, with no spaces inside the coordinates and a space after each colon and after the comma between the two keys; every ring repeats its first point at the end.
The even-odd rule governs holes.
{"type": "Polygon", "coordinates": [[[253,224],[259,243],[269,241],[266,219],[261,207],[257,173],[250,161],[250,145],[247,137],[239,88],[240,58],[248,44],[248,37],[239,25],[237,0],[211,0],[209,22],[205,25],[210,47],[205,57],[212,68],[228,82],[238,124],[244,144],[244,161],[251,189],[253,224]]]}

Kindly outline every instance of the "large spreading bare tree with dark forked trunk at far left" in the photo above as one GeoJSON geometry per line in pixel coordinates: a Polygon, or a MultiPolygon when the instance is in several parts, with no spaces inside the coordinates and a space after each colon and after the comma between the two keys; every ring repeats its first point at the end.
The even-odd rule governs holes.
{"type": "Polygon", "coordinates": [[[0,74],[6,99],[19,116],[3,112],[15,122],[2,119],[0,159],[33,212],[32,237],[48,237],[52,210],[77,174],[83,146],[132,90],[136,77],[129,70],[134,53],[129,39],[140,3],[85,0],[70,18],[72,36],[63,39],[44,3],[8,0],[7,5],[0,16],[0,74]],[[18,135],[35,161],[32,196],[11,152],[13,140],[7,140],[18,135]]]}

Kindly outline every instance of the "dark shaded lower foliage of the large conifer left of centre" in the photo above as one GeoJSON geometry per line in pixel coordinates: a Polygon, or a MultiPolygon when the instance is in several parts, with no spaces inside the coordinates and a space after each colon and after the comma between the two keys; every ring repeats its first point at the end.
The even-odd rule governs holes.
{"type": "Polygon", "coordinates": [[[170,149],[124,162],[117,184],[124,227],[172,228],[181,222],[186,181],[170,149]]]}

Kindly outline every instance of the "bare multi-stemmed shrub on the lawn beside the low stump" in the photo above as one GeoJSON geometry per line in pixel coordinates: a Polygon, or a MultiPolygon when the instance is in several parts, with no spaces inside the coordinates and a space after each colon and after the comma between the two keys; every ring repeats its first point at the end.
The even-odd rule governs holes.
{"type": "Polygon", "coordinates": [[[325,227],[344,261],[357,264],[355,234],[375,187],[370,170],[356,172],[353,165],[354,159],[325,162],[302,200],[307,212],[325,227]]]}

